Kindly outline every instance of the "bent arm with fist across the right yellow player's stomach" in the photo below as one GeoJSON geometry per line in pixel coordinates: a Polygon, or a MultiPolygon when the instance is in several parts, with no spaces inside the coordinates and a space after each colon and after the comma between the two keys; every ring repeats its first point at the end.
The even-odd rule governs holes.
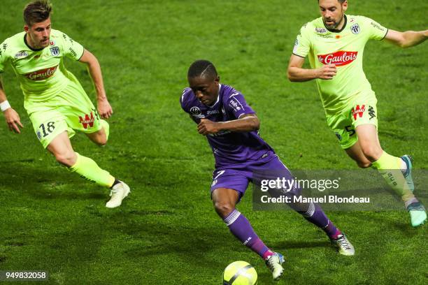
{"type": "Polygon", "coordinates": [[[303,82],[315,78],[330,80],[336,75],[336,65],[334,64],[326,64],[315,69],[306,69],[302,68],[304,62],[305,59],[303,57],[292,54],[287,69],[287,77],[290,81],[303,82]]]}

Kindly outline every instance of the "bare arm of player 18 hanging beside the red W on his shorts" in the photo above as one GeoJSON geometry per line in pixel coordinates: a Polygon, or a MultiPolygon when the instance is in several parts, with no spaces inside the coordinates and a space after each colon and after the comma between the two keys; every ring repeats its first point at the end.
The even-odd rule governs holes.
{"type": "Polygon", "coordinates": [[[85,50],[79,61],[87,64],[92,82],[94,82],[95,90],[97,91],[98,113],[101,118],[108,119],[113,114],[113,109],[108,103],[106,91],[104,90],[103,76],[101,75],[101,66],[99,66],[98,59],[94,54],[85,50]]]}

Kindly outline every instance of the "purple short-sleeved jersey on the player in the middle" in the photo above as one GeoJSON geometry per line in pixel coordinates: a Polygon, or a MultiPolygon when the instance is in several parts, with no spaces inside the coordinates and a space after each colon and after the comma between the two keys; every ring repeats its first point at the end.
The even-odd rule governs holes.
{"type": "MultiPolygon", "coordinates": [[[[197,124],[202,118],[213,122],[227,122],[239,119],[245,114],[255,114],[245,102],[241,92],[227,85],[220,85],[217,101],[211,106],[201,103],[190,88],[184,89],[180,103],[183,110],[189,113],[197,124]]],[[[209,134],[206,138],[213,149],[215,168],[228,168],[264,159],[273,154],[273,149],[260,138],[257,131],[245,133],[221,131],[209,134]]]]}

